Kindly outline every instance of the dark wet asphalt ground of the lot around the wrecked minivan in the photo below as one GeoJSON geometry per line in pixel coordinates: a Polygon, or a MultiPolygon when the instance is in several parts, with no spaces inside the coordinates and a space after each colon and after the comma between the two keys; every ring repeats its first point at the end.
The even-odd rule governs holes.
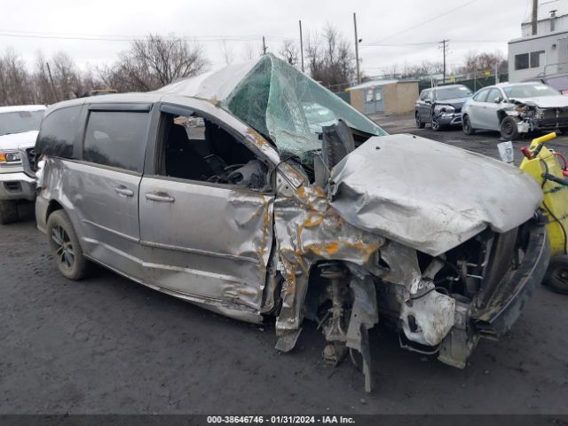
{"type": "MultiPolygon", "coordinates": [[[[415,130],[411,115],[377,117],[495,156],[498,135],[415,130]]],[[[521,146],[517,143],[516,146],[521,146]]],[[[567,138],[553,144],[568,150],[567,138]]],[[[63,279],[24,219],[0,225],[0,413],[498,413],[568,414],[568,296],[539,288],[500,342],[482,341],[463,370],[371,333],[375,391],[347,360],[321,361],[307,322],[296,350],[262,327],[204,311],[99,269],[63,279]]]]}

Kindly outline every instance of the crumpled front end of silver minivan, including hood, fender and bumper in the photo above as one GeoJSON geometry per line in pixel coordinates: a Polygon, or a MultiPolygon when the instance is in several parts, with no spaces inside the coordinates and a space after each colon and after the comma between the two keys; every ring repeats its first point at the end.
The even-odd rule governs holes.
{"type": "Polygon", "coordinates": [[[540,188],[501,162],[398,135],[370,138],[325,188],[283,171],[277,348],[292,349],[313,319],[329,363],[360,352],[367,390],[367,330],[379,318],[401,346],[464,367],[480,337],[511,327],[546,270],[540,188]]]}

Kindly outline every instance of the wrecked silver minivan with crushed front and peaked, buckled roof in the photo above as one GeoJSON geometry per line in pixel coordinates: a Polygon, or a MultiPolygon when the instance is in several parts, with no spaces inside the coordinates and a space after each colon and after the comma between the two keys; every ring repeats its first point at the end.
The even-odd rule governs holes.
{"type": "Polygon", "coordinates": [[[236,319],[273,315],[280,351],[312,319],[328,361],[360,352],[367,390],[379,319],[464,367],[548,263],[531,177],[387,135],[270,54],[51,106],[36,152],[37,223],[67,278],[92,261],[236,319]]]}

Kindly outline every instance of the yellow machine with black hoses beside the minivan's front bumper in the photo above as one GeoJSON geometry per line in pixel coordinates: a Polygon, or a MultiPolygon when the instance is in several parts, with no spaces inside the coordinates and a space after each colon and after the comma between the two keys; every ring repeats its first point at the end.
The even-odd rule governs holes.
{"type": "Polygon", "coordinates": [[[548,218],[550,263],[543,282],[559,293],[568,294],[568,170],[564,155],[544,146],[544,142],[553,138],[556,133],[548,133],[521,149],[525,159],[520,169],[534,177],[544,193],[541,207],[548,218]]]}

